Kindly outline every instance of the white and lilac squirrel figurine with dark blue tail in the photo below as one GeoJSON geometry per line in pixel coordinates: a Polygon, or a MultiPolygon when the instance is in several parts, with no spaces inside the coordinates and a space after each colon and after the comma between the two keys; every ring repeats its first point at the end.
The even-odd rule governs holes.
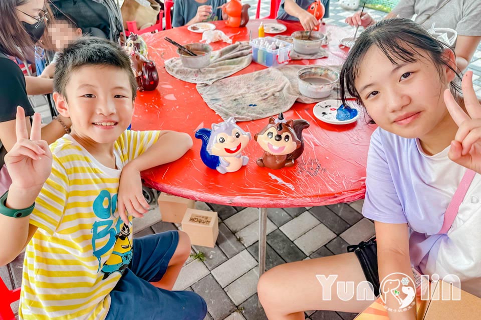
{"type": "Polygon", "coordinates": [[[213,123],[212,130],[198,129],[195,137],[202,140],[200,158],[211,169],[220,173],[234,172],[249,162],[249,157],[241,152],[251,139],[251,133],[235,124],[233,117],[213,123]]]}

